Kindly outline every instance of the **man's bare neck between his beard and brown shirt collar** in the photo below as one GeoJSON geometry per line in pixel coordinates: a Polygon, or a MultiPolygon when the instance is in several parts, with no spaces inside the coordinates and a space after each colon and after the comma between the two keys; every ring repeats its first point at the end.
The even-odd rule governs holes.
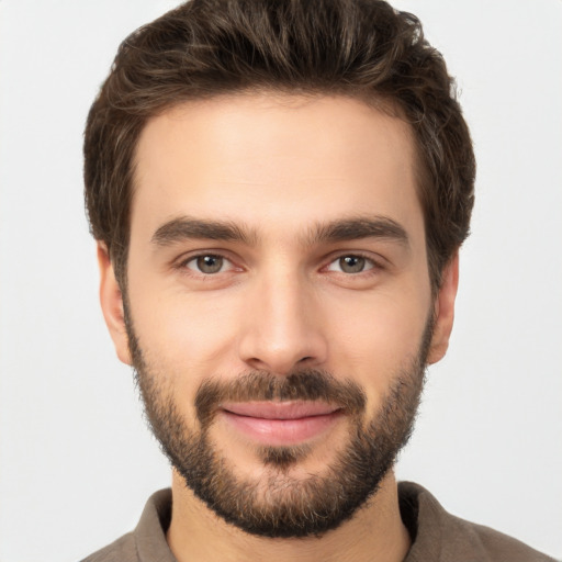
{"type": "Polygon", "coordinates": [[[211,512],[173,472],[168,543],[178,562],[252,560],[268,562],[353,560],[401,562],[409,535],[398,509],[397,485],[390,472],[376,494],[355,516],[322,537],[270,539],[248,535],[211,512]]]}

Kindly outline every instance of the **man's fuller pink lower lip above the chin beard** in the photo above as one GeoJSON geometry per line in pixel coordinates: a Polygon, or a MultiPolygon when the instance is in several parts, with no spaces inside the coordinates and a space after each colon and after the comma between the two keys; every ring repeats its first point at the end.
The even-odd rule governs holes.
{"type": "Polygon", "coordinates": [[[269,446],[294,446],[313,439],[328,429],[342,415],[340,412],[297,419],[266,419],[222,412],[226,422],[251,440],[269,446]]]}

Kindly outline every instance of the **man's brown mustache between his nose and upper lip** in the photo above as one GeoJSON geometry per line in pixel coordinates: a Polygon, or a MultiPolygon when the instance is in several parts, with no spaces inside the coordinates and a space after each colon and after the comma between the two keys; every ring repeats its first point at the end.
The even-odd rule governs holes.
{"type": "Polygon", "coordinates": [[[206,380],[195,394],[195,412],[203,428],[209,427],[225,402],[322,401],[346,414],[364,412],[364,391],[351,380],[337,380],[331,373],[307,369],[286,376],[251,371],[232,381],[206,380]]]}

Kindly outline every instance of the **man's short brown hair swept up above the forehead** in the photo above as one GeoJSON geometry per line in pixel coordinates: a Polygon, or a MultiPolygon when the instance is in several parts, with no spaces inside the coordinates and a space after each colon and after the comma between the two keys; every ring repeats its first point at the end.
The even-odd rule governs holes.
{"type": "Polygon", "coordinates": [[[146,121],[184,101],[254,90],[390,102],[411,124],[436,290],[469,234],[474,154],[441,55],[414,15],[382,0],[191,0],[121,44],[83,149],[91,233],[120,283],[146,121]]]}

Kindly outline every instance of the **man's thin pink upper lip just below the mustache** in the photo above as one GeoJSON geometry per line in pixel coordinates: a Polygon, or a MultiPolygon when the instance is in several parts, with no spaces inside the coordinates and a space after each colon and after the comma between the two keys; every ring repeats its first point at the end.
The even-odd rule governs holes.
{"type": "Polygon", "coordinates": [[[339,411],[326,402],[233,402],[221,405],[222,409],[237,416],[261,419],[300,419],[327,416],[339,411]]]}

